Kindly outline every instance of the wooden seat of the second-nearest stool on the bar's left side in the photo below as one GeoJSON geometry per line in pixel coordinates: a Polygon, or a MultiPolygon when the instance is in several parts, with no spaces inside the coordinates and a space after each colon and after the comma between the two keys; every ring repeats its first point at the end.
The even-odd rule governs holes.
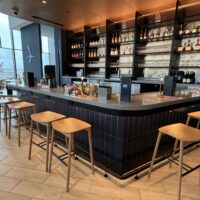
{"type": "Polygon", "coordinates": [[[41,124],[51,123],[62,118],[65,118],[65,115],[61,115],[52,111],[44,111],[31,115],[31,120],[41,124]]]}

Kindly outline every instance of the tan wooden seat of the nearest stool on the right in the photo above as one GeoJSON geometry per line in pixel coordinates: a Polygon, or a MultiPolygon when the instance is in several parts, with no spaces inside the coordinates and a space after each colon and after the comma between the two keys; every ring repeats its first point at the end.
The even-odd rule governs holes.
{"type": "Polygon", "coordinates": [[[159,131],[184,142],[200,141],[200,130],[182,123],[163,126],[159,128],[159,131]]]}

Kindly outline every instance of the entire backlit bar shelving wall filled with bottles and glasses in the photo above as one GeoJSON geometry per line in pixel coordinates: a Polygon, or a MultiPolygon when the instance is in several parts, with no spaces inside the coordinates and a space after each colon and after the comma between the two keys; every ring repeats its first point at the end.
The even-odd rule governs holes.
{"type": "Polygon", "coordinates": [[[68,75],[76,76],[82,69],[85,77],[94,79],[119,80],[121,74],[130,74],[133,79],[155,78],[155,74],[159,78],[176,75],[179,70],[186,71],[191,59],[187,54],[192,56],[192,60],[199,57],[199,62],[188,65],[188,70],[198,69],[200,49],[182,52],[177,49],[188,39],[196,42],[199,38],[200,41],[200,28],[197,33],[179,34],[181,27],[185,29],[188,24],[194,25],[199,21],[200,27],[199,6],[181,7],[180,2],[177,0],[175,10],[162,12],[160,19],[159,16],[142,16],[136,12],[134,18],[126,21],[106,20],[103,26],[84,27],[82,32],[71,33],[67,39],[70,44],[68,75]],[[73,42],[82,42],[83,45],[72,49],[73,42]],[[72,52],[76,51],[83,51],[83,54],[72,57],[72,52]],[[182,62],[182,57],[187,62],[182,62]]]}

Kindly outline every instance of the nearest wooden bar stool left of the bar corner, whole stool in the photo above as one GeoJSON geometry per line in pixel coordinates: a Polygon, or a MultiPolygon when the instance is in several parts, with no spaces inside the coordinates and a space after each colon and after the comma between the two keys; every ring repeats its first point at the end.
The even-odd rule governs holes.
{"type": "Polygon", "coordinates": [[[87,133],[88,133],[88,143],[89,143],[89,150],[90,150],[91,168],[92,168],[92,174],[94,174],[91,125],[84,122],[84,121],[76,119],[76,118],[66,118],[66,119],[62,119],[62,120],[53,122],[52,127],[53,127],[53,129],[52,129],[52,138],[51,138],[49,172],[51,171],[54,133],[55,133],[55,131],[58,131],[65,136],[66,144],[67,144],[67,139],[69,139],[69,143],[68,143],[68,170],[67,170],[67,185],[66,185],[66,191],[69,192],[72,140],[73,140],[73,136],[76,133],[83,131],[83,130],[87,131],[87,133]]]}

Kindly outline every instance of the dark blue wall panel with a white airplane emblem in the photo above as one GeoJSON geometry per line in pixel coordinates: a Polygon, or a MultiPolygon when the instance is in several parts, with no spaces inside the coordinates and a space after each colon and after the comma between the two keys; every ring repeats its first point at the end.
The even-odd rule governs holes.
{"type": "Polygon", "coordinates": [[[40,25],[31,24],[21,29],[24,71],[34,72],[35,78],[42,77],[40,25]]]}

